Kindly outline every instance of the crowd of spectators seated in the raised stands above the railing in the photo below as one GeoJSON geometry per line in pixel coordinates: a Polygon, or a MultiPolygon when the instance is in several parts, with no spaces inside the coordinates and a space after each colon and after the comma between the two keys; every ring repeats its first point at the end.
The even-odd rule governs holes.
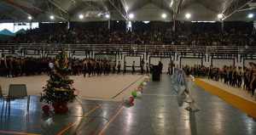
{"type": "Polygon", "coordinates": [[[9,43],[58,43],[58,44],[150,44],[150,45],[223,45],[251,47],[255,45],[255,30],[243,31],[172,31],[139,30],[111,31],[108,29],[54,30],[37,28],[17,34],[9,43]]]}

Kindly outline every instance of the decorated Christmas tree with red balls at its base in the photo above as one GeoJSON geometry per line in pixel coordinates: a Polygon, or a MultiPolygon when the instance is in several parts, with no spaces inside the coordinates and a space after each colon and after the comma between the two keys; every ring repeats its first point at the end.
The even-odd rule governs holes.
{"type": "Polygon", "coordinates": [[[67,112],[67,104],[76,98],[73,80],[68,77],[67,63],[67,53],[62,50],[56,56],[54,70],[49,72],[49,81],[43,87],[44,93],[41,94],[41,101],[52,104],[57,114],[67,112]]]}

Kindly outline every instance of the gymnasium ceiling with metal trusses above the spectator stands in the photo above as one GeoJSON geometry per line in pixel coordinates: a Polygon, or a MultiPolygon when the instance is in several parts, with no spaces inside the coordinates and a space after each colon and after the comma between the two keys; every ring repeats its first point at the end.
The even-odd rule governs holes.
{"type": "Polygon", "coordinates": [[[244,16],[256,8],[256,0],[0,0],[0,21],[27,21],[28,16],[39,22],[100,21],[108,20],[106,14],[111,14],[111,20],[130,20],[128,14],[148,4],[166,11],[170,20],[178,20],[177,16],[195,3],[223,14],[222,20],[246,20],[244,16]],[[79,14],[84,15],[83,20],[79,20],[79,14]],[[54,15],[55,20],[50,20],[49,15],[54,15]]]}

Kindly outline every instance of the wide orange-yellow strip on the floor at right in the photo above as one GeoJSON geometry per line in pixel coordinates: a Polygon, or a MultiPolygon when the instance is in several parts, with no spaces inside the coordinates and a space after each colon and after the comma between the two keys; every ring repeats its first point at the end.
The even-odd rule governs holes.
{"type": "Polygon", "coordinates": [[[214,87],[207,82],[203,82],[198,78],[195,78],[195,84],[207,92],[212,93],[213,95],[217,96],[218,98],[222,98],[224,101],[232,104],[237,109],[251,115],[253,118],[256,118],[256,104],[250,102],[244,98],[236,96],[233,93],[228,93],[224,89],[214,87]]]}

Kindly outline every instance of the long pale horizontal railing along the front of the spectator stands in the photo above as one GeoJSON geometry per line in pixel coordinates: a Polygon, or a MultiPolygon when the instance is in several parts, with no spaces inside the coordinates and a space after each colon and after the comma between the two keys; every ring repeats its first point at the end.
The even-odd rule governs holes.
{"type": "Polygon", "coordinates": [[[195,45],[137,45],[137,44],[49,44],[49,43],[5,43],[2,50],[44,50],[56,51],[93,51],[93,52],[137,52],[137,53],[224,53],[256,54],[256,47],[237,46],[195,46],[195,45]]]}

